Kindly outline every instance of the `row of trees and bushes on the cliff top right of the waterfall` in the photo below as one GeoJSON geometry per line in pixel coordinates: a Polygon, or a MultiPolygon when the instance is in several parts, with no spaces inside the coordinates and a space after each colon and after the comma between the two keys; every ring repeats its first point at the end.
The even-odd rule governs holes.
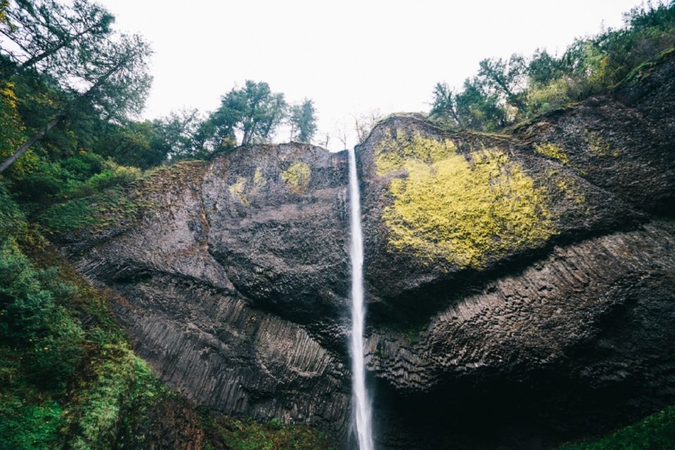
{"type": "Polygon", "coordinates": [[[608,91],[675,45],[675,0],[637,6],[624,23],[577,39],[560,57],[538,49],[529,60],[484,59],[462,89],[436,85],[430,117],[451,127],[494,130],[608,91]]]}

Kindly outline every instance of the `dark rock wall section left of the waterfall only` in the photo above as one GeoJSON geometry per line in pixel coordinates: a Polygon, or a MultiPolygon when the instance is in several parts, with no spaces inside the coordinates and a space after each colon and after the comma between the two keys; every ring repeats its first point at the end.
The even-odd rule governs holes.
{"type": "Polygon", "coordinates": [[[136,352],[170,386],[231,415],[344,436],[342,342],[322,344],[311,326],[347,314],[345,171],[339,155],[295,144],[179,165],[132,195],[149,205],[142,219],[63,242],[120,294],[136,352]]]}

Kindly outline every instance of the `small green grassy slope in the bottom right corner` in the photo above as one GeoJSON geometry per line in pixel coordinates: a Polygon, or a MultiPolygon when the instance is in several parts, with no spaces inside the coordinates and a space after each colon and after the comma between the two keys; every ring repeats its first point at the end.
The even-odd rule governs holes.
{"type": "Polygon", "coordinates": [[[565,444],[559,450],[656,450],[675,448],[675,406],[595,441],[565,444]]]}

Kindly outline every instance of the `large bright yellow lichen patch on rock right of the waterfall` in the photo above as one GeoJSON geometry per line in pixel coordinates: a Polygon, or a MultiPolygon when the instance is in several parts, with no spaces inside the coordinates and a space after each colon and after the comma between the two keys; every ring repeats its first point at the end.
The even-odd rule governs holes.
{"type": "Polygon", "coordinates": [[[482,150],[469,160],[454,153],[431,163],[411,158],[403,165],[408,176],[391,181],[394,201],[383,213],[397,250],[480,268],[556,232],[546,190],[506,153],[482,150]]]}

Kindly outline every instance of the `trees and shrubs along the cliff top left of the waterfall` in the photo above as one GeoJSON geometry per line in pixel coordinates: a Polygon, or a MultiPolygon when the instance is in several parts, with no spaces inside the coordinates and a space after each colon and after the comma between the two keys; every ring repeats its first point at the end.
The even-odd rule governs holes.
{"type": "Polygon", "coordinates": [[[111,217],[134,216],[139,205],[124,194],[160,165],[207,159],[238,139],[267,141],[281,122],[290,139],[309,141],[316,131],[311,100],[288,105],[251,81],[207,117],[135,120],[150,86],[151,51],[141,37],[115,30],[113,15],[89,0],[0,6],[0,163],[30,143],[2,177],[46,231],[101,229],[111,217]]]}

